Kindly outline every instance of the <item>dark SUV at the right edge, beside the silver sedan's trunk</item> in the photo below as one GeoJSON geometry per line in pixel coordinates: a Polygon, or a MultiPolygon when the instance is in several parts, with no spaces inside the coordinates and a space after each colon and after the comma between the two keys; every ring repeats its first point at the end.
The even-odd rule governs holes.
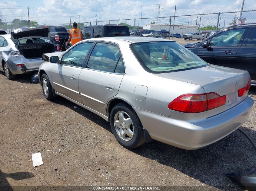
{"type": "Polygon", "coordinates": [[[256,23],[237,24],[184,46],[210,64],[248,71],[256,86],[256,23]]]}

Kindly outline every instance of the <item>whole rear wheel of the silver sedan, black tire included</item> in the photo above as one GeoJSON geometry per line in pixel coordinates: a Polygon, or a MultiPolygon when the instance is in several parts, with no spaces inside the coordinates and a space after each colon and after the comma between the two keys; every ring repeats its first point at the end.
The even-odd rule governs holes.
{"type": "Polygon", "coordinates": [[[110,113],[110,126],[120,145],[131,149],[144,143],[143,126],[131,106],[115,105],[110,113]]]}

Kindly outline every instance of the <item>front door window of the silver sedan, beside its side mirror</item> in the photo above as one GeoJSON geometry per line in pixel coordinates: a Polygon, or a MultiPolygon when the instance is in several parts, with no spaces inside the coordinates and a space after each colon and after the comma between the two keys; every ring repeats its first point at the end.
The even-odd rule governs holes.
{"type": "Polygon", "coordinates": [[[62,57],[61,64],[82,67],[92,44],[91,42],[78,44],[62,57]]]}

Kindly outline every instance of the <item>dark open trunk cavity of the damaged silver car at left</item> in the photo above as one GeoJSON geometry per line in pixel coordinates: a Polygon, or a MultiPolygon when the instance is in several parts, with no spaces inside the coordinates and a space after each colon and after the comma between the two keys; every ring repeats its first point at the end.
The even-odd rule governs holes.
{"type": "Polygon", "coordinates": [[[36,59],[42,58],[44,53],[55,52],[55,45],[51,43],[21,44],[18,49],[26,59],[36,59]]]}

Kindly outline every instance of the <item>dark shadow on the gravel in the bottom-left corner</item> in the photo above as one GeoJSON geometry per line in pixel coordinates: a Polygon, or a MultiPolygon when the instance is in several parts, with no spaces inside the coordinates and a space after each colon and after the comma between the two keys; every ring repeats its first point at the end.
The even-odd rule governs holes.
{"type": "MultiPolygon", "coordinates": [[[[23,180],[35,177],[30,172],[15,172],[15,173],[4,173],[0,169],[0,190],[12,191],[12,187],[6,178],[12,178],[13,180],[23,180]]],[[[17,187],[17,186],[16,186],[17,187]]]]}

